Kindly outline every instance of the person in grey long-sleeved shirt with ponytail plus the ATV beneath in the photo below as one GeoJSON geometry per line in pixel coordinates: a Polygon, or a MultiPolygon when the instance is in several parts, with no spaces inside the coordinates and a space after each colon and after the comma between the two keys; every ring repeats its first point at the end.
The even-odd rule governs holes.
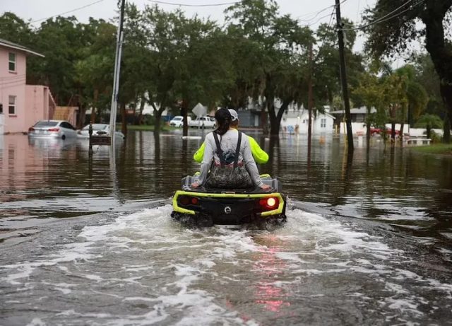
{"type": "Polygon", "coordinates": [[[249,137],[230,128],[228,110],[218,110],[215,118],[218,129],[206,136],[201,173],[182,178],[171,216],[196,226],[285,221],[280,183],[258,174],[249,137]]]}

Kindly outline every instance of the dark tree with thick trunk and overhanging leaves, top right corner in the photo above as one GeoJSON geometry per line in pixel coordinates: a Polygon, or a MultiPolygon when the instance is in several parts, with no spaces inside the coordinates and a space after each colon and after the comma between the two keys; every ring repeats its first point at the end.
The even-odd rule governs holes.
{"type": "MultiPolygon", "coordinates": [[[[425,37],[425,47],[439,76],[441,97],[452,123],[452,46],[445,33],[451,23],[451,8],[452,0],[378,0],[367,11],[364,21],[369,33],[367,49],[377,57],[403,52],[410,41],[425,37]],[[418,29],[418,21],[424,23],[423,28],[418,29]]],[[[444,136],[450,140],[449,132],[444,136]]]]}

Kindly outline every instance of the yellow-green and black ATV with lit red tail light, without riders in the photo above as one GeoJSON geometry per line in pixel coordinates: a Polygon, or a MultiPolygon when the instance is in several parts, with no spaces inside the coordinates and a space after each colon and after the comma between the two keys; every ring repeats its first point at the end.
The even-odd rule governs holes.
{"type": "Polygon", "coordinates": [[[286,200],[280,182],[270,175],[261,175],[261,180],[270,190],[194,188],[191,183],[198,181],[198,175],[186,176],[182,190],[174,193],[171,216],[200,226],[284,222],[286,200]]]}

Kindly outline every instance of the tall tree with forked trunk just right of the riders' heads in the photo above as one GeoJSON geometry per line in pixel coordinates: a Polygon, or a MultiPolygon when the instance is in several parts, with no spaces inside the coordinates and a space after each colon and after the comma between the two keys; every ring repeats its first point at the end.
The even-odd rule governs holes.
{"type": "MultiPolygon", "coordinates": [[[[270,117],[270,134],[278,136],[280,121],[287,106],[299,100],[305,74],[300,68],[307,63],[307,50],[314,42],[311,30],[298,25],[290,16],[279,16],[278,5],[273,0],[244,0],[226,13],[230,26],[239,30],[254,45],[254,62],[258,69],[243,80],[236,80],[237,89],[253,91],[255,103],[263,101],[261,124],[266,125],[266,112],[270,117]],[[275,100],[280,100],[278,113],[275,100]]],[[[245,68],[246,69],[246,68],[245,68]]],[[[246,71],[246,70],[245,70],[246,71]]],[[[239,74],[246,76],[246,73],[239,74]]],[[[307,93],[307,88],[304,88],[307,93]]]]}

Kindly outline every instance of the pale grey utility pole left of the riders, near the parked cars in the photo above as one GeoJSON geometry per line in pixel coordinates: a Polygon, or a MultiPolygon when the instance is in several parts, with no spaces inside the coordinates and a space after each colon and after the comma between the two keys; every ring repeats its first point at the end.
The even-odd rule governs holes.
{"type": "Polygon", "coordinates": [[[126,0],[121,0],[121,15],[119,16],[116,55],[114,57],[112,106],[110,107],[110,136],[112,138],[111,141],[112,141],[113,147],[114,147],[114,134],[116,132],[116,115],[117,115],[117,110],[118,110],[119,72],[121,71],[121,51],[122,51],[122,40],[123,40],[122,29],[123,29],[123,24],[124,24],[124,8],[125,8],[125,6],[126,6],[126,0]]]}

